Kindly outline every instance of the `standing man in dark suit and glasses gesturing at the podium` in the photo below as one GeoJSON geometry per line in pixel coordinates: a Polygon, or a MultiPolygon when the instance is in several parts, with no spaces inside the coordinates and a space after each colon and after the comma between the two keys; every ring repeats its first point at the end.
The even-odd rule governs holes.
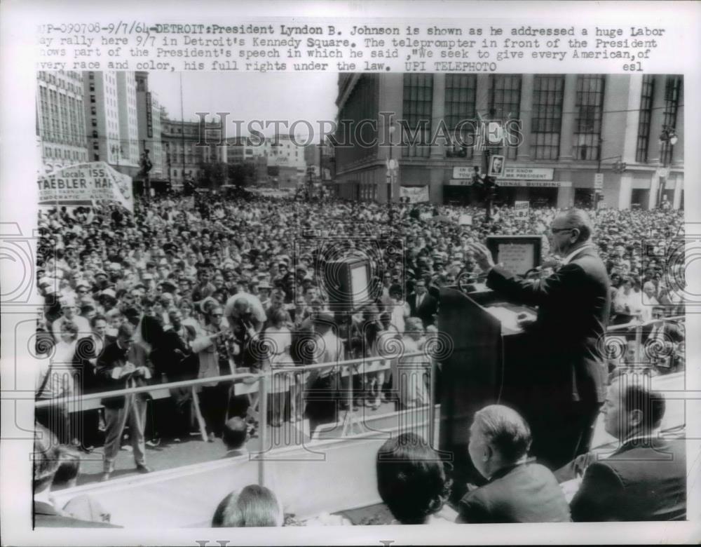
{"type": "Polygon", "coordinates": [[[559,468],[587,452],[605,398],[603,339],[611,297],[608,275],[591,242],[592,222],[583,210],[560,212],[550,226],[550,247],[562,263],[538,281],[517,279],[494,264],[482,244],[472,245],[486,285],[515,304],[538,306],[523,324],[529,346],[531,454],[559,468]]]}

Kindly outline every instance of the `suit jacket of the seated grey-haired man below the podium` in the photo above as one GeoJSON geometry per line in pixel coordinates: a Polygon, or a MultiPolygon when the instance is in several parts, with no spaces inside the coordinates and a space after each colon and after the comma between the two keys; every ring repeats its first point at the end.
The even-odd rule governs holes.
{"type": "Polygon", "coordinates": [[[456,522],[569,522],[569,506],[554,475],[540,464],[502,469],[465,494],[456,522]]]}

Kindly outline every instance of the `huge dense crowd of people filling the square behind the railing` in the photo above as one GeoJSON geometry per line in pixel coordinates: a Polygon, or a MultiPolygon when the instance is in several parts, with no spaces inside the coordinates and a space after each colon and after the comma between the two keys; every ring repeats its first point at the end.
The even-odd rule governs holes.
{"type": "MultiPolygon", "coordinates": [[[[611,278],[611,322],[644,321],[655,306],[673,313],[683,288],[669,280],[679,279],[681,264],[668,271],[665,252],[681,235],[683,212],[591,213],[594,243],[611,278]]],[[[547,238],[556,211],[520,214],[500,208],[486,221],[477,208],[310,203],[245,193],[137,199],[133,212],[110,205],[43,210],[37,283],[46,304],[36,352],[46,358],[36,397],[371,358],[382,355],[388,339],[421,351],[436,333],[437,290],[460,276],[481,275],[473,245],[489,234],[547,238]],[[463,215],[470,223],[460,222],[463,215]],[[329,311],[323,272],[330,260],[353,254],[372,261],[373,302],[356,310],[345,329],[329,311]],[[62,371],[69,380],[56,374],[57,364],[68,365],[62,371]]],[[[647,335],[669,337],[653,328],[647,335]]],[[[681,331],[677,338],[683,339],[681,331]]],[[[376,409],[383,402],[401,409],[430,398],[420,372],[397,391],[396,368],[353,379],[330,367],[282,378],[273,377],[286,387],[273,386],[272,426],[327,417],[329,393],[334,409],[349,403],[376,409]],[[309,389],[325,396],[303,398],[309,389]]],[[[109,397],[104,409],[80,413],[43,407],[37,419],[64,445],[89,451],[103,443],[104,480],[127,426],[137,469],[148,473],[146,443],[189,436],[196,421],[191,413],[212,442],[231,417],[245,420],[250,434],[259,425],[257,396],[237,395],[231,381],[175,386],[170,398],[152,405],[148,398],[109,397]]]]}

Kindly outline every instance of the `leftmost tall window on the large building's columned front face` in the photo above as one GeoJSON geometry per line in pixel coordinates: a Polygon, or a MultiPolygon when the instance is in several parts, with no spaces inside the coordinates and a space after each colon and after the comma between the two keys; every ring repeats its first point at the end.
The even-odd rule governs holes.
{"type": "Polygon", "coordinates": [[[430,154],[433,74],[404,74],[402,116],[402,156],[428,157],[430,154]]]}

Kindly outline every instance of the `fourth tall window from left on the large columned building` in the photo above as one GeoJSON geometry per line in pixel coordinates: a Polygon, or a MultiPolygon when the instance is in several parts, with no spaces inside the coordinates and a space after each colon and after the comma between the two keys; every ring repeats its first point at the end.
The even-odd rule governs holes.
{"type": "Polygon", "coordinates": [[[533,159],[559,158],[562,97],[565,78],[543,74],[533,78],[533,116],[531,118],[531,155],[533,159]]]}

